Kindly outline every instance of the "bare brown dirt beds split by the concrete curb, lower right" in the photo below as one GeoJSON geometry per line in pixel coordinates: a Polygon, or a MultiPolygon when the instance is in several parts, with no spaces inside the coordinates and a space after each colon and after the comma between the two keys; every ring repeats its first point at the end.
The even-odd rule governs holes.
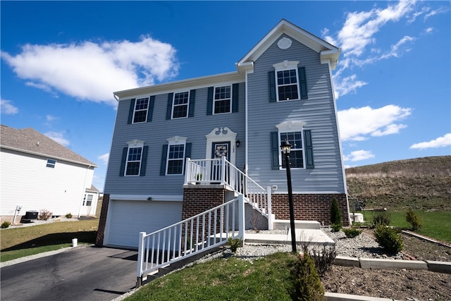
{"type": "MultiPolygon", "coordinates": [[[[451,248],[402,235],[405,259],[451,262],[451,248]]],[[[331,293],[393,298],[395,300],[450,300],[451,274],[431,271],[369,270],[333,266],[321,278],[331,293]]]]}

